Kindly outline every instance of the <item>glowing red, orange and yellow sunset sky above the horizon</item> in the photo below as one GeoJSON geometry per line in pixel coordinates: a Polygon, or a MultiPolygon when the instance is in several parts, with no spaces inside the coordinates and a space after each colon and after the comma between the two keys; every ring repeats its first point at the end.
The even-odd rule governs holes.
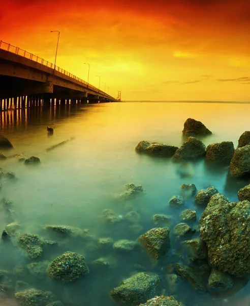
{"type": "Polygon", "coordinates": [[[250,100],[250,0],[0,0],[0,40],[54,62],[52,30],[59,67],[123,100],[250,100]]]}

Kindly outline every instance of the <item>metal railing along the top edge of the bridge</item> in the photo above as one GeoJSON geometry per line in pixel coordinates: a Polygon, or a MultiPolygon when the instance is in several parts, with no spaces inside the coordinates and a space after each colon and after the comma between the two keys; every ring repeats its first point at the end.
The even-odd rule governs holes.
{"type": "MultiPolygon", "coordinates": [[[[13,46],[10,43],[7,43],[7,42],[4,42],[4,41],[0,40],[0,49],[6,50],[6,51],[14,53],[14,54],[17,54],[19,56],[22,56],[22,57],[24,57],[26,59],[29,59],[29,60],[32,60],[34,62],[40,63],[40,64],[42,64],[42,65],[44,65],[46,67],[49,67],[51,69],[55,69],[56,71],[61,72],[61,73],[67,75],[68,77],[70,77],[72,79],[75,79],[75,80],[77,80],[77,81],[79,81],[79,82],[81,82],[81,83],[83,83],[85,85],[88,85],[89,89],[93,89],[93,90],[99,92],[99,89],[97,87],[88,84],[87,82],[83,81],[82,79],[76,77],[76,75],[74,75],[74,74],[72,74],[72,73],[70,73],[70,72],[68,72],[68,71],[66,71],[66,70],[64,70],[64,69],[62,69],[62,68],[60,68],[58,66],[55,66],[53,63],[50,63],[50,62],[48,62],[48,61],[46,61],[46,60],[44,60],[44,59],[42,59],[42,58],[32,54],[32,53],[29,53],[26,50],[23,50],[23,49],[21,49],[19,47],[13,46]]],[[[106,95],[108,97],[111,97],[108,94],[106,94],[106,95]]]]}

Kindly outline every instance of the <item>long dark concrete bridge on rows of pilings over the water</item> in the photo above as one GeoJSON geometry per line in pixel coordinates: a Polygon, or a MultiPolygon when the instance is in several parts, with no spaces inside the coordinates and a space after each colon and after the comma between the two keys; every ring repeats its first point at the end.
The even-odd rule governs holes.
{"type": "Polygon", "coordinates": [[[0,40],[0,111],[117,101],[54,64],[0,40]]]}

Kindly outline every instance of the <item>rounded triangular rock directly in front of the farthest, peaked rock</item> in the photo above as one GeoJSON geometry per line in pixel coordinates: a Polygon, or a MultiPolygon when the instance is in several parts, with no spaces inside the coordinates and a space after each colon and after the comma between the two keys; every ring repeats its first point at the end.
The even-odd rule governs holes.
{"type": "Polygon", "coordinates": [[[182,143],[180,148],[175,151],[172,159],[174,161],[190,160],[203,157],[205,155],[206,147],[204,143],[201,140],[190,136],[182,143]]]}

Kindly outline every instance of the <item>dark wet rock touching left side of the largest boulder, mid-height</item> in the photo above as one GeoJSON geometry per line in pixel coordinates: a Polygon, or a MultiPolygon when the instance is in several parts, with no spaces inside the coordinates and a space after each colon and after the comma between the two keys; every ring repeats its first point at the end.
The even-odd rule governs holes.
{"type": "Polygon", "coordinates": [[[181,242],[181,246],[184,251],[193,259],[206,259],[207,247],[199,237],[191,240],[185,240],[181,242]]]}

